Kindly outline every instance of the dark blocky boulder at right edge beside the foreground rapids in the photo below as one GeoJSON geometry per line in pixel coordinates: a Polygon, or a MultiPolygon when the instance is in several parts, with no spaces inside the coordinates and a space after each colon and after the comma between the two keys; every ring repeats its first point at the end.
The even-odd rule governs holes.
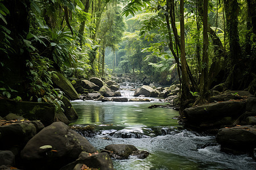
{"type": "Polygon", "coordinates": [[[240,154],[256,148],[256,126],[236,126],[218,130],[216,140],[222,151],[240,154]]]}

